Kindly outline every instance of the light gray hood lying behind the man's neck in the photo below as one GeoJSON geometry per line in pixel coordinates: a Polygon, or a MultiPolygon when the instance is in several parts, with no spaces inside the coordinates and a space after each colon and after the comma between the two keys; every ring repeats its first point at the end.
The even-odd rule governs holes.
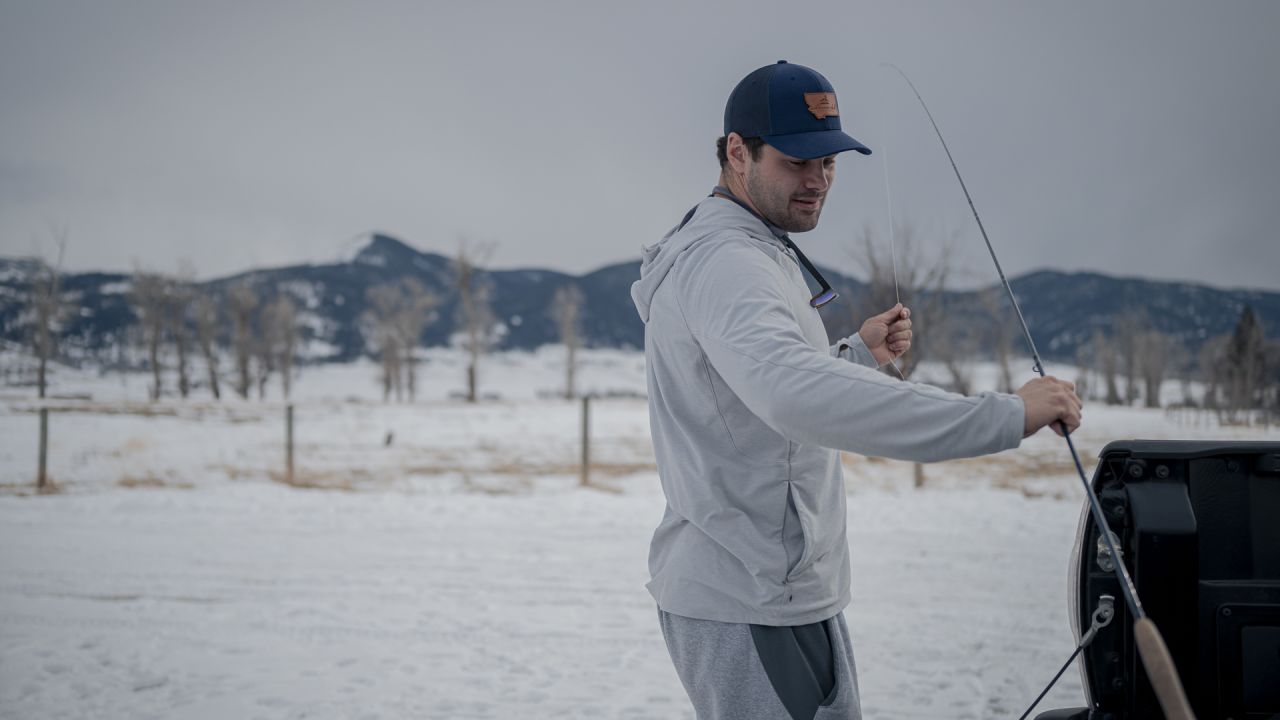
{"type": "Polygon", "coordinates": [[[716,196],[704,199],[662,240],[640,249],[640,279],[631,283],[631,301],[641,320],[649,322],[653,296],[676,260],[694,245],[724,232],[745,232],[756,240],[782,245],[763,220],[737,202],[716,196]]]}

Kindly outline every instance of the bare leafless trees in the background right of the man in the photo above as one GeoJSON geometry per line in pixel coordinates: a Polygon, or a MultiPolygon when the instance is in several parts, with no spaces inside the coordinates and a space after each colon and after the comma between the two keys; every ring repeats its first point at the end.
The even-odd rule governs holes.
{"type": "MultiPolygon", "coordinates": [[[[916,329],[911,351],[897,363],[905,377],[920,363],[936,363],[945,373],[941,384],[969,395],[974,361],[989,359],[998,373],[996,389],[1012,392],[1012,359],[1029,352],[1004,288],[978,293],[977,307],[957,307],[947,295],[956,274],[954,245],[943,242],[941,250],[925,254],[910,224],[896,232],[891,245],[863,228],[851,243],[867,287],[850,320],[859,323],[901,300],[911,307],[916,329]],[[896,258],[891,256],[895,251],[896,258]]],[[[1266,337],[1249,306],[1240,309],[1234,328],[1207,338],[1198,352],[1157,329],[1146,311],[1121,313],[1110,328],[1093,329],[1076,352],[1075,366],[1075,377],[1068,379],[1075,382],[1076,392],[1107,405],[1198,407],[1217,413],[1224,421],[1247,420],[1256,410],[1280,411],[1280,338],[1266,337]],[[1162,402],[1167,382],[1178,382],[1180,392],[1176,400],[1162,402]]]]}

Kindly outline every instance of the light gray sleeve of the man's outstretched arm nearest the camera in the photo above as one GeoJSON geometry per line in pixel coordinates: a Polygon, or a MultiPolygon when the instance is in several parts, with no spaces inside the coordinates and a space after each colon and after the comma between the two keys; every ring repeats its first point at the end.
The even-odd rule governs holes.
{"type": "Polygon", "coordinates": [[[805,340],[787,302],[794,288],[764,252],[726,241],[692,254],[669,278],[685,323],[730,389],[783,437],[922,462],[1021,442],[1020,397],[966,397],[837,357],[805,340]]]}

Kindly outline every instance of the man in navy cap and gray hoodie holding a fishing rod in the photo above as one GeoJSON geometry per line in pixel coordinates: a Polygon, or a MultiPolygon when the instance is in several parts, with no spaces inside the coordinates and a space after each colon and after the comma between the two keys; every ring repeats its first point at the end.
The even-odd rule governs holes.
{"type": "Polygon", "coordinates": [[[846,150],[870,154],[824,77],[786,61],[746,76],[719,184],[644,249],[631,288],[667,497],[648,588],[700,719],[860,717],[838,450],[946,460],[1080,421],[1053,378],[965,397],[876,372],[911,345],[901,305],[828,345],[817,307],[835,293],[787,233],[818,224],[846,150]]]}

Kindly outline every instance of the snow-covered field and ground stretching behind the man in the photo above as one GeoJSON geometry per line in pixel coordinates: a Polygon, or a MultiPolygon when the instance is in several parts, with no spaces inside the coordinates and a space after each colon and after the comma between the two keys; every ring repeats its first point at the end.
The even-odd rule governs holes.
{"type": "MultiPolygon", "coordinates": [[[[47,496],[33,392],[0,388],[0,717],[692,717],[644,589],[643,357],[586,354],[582,387],[613,396],[591,488],[562,375],[557,348],[490,357],[467,406],[433,351],[408,405],[372,365],[305,368],[291,487],[276,386],[147,404],[148,377],[59,369],[47,496]]],[[[1092,466],[1119,438],[1277,436],[1087,405],[1076,446],[1092,466]]],[[[845,464],[865,716],[1018,717],[1073,648],[1065,445],[929,465],[923,488],[845,464]]],[[[1080,702],[1073,671],[1041,708],[1080,702]]]]}

